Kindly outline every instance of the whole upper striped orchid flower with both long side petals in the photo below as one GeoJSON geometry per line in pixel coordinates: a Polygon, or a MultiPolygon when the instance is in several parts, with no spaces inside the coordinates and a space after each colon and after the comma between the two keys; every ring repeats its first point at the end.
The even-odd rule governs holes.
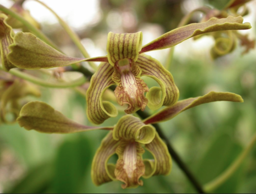
{"type": "MultiPolygon", "coordinates": [[[[108,55],[96,58],[68,57],[51,46],[45,44],[31,33],[19,32],[14,36],[7,62],[24,69],[52,68],[71,65],[82,61],[101,61],[98,70],[92,76],[90,88],[87,91],[87,116],[92,123],[103,123],[109,117],[118,115],[115,106],[102,97],[105,90],[117,84],[115,95],[120,105],[128,104],[125,110],[131,114],[146,105],[152,110],[162,106],[171,106],[179,97],[178,89],[172,75],[163,65],[144,52],[160,50],[175,46],[186,39],[222,30],[242,30],[251,28],[249,23],[243,23],[243,18],[228,17],[212,18],[204,23],[183,26],[165,33],[158,39],[142,46],[142,32],[108,35],[108,55]],[[141,79],[148,76],[155,79],[159,87],[150,90],[141,79]],[[146,97],[144,96],[144,93],[146,97]]],[[[6,70],[12,68],[6,66],[6,70]]]]}

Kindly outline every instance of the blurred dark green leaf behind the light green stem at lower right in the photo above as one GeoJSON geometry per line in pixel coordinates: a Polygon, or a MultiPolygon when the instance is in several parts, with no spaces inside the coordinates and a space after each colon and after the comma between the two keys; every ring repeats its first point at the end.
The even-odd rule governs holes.
{"type": "MultiPolygon", "coordinates": [[[[242,151],[242,146],[223,131],[212,139],[209,149],[198,163],[196,175],[202,184],[220,175],[242,151]]],[[[242,173],[243,167],[239,168],[215,193],[236,193],[242,173]]]]}

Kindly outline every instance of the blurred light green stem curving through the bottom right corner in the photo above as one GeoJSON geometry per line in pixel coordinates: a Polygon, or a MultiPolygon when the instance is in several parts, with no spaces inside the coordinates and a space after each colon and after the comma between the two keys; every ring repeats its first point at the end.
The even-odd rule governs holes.
{"type": "Polygon", "coordinates": [[[237,168],[240,167],[240,165],[243,163],[245,157],[249,154],[253,146],[256,144],[256,135],[252,138],[251,142],[249,142],[246,149],[243,150],[243,152],[236,158],[235,162],[230,165],[229,168],[227,168],[221,175],[219,175],[216,179],[213,181],[210,181],[204,186],[204,190],[208,193],[212,193],[214,190],[216,190],[218,187],[220,187],[225,181],[227,181],[230,176],[232,176],[237,168]]]}

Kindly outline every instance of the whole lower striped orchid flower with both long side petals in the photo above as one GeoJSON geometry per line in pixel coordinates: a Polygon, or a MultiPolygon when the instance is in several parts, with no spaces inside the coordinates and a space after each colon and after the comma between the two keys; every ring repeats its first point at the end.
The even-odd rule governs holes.
{"type": "Polygon", "coordinates": [[[178,101],[144,121],[131,115],[123,116],[115,127],[84,126],[68,119],[46,103],[35,101],[27,103],[21,109],[18,123],[25,129],[44,133],[111,130],[94,156],[92,181],[97,186],[110,181],[122,181],[125,183],[123,188],[136,188],[143,184],[141,177],[169,175],[171,172],[171,155],[151,124],[170,120],[184,110],[216,101],[241,103],[243,98],[229,92],[210,92],[203,97],[178,101]],[[144,149],[153,155],[153,160],[143,160],[144,149]],[[108,163],[114,154],[118,155],[117,163],[108,163]]]}

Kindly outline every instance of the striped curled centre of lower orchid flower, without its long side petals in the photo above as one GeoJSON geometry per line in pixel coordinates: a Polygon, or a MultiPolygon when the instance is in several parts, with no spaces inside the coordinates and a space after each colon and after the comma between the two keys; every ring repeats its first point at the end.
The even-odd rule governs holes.
{"type": "Polygon", "coordinates": [[[140,178],[154,175],[169,175],[171,156],[167,146],[151,125],[145,125],[135,116],[122,117],[113,132],[102,141],[92,162],[92,180],[101,185],[109,181],[122,181],[122,188],[137,188],[143,185],[140,178]],[[154,160],[143,160],[147,149],[154,160]],[[109,158],[118,155],[116,164],[109,158]]]}

